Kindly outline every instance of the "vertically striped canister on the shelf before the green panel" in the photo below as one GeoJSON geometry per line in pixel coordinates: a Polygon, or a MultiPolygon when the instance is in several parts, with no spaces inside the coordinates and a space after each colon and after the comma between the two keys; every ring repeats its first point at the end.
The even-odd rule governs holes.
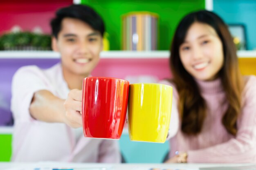
{"type": "Polygon", "coordinates": [[[157,50],[156,13],[130,12],[122,16],[122,48],[132,51],[157,50]]]}

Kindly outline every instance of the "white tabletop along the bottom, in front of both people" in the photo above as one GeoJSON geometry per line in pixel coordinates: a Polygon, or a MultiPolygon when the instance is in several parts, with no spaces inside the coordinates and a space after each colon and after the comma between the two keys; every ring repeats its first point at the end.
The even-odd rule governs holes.
{"type": "MultiPolygon", "coordinates": [[[[0,170],[52,170],[59,169],[74,169],[74,170],[199,170],[199,168],[208,167],[229,167],[225,170],[233,170],[231,167],[254,166],[256,164],[105,164],[105,163],[61,163],[61,162],[38,162],[38,163],[4,163],[0,162],[0,170]],[[91,169],[89,169],[91,168],[91,169]],[[94,169],[93,169],[94,168],[94,169]]],[[[256,168],[254,168],[255,170],[256,168]]],[[[218,168],[214,168],[218,170],[218,168]]],[[[220,168],[223,170],[223,168],[220,168]]],[[[247,168],[237,168],[236,170],[253,170],[247,168]]]]}

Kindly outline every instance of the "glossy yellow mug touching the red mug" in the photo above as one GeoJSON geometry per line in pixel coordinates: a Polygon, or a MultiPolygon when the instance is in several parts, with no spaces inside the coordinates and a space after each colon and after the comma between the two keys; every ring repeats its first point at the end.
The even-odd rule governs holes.
{"type": "Polygon", "coordinates": [[[173,88],[164,84],[130,84],[128,132],[131,141],[164,143],[171,119],[173,88]]]}

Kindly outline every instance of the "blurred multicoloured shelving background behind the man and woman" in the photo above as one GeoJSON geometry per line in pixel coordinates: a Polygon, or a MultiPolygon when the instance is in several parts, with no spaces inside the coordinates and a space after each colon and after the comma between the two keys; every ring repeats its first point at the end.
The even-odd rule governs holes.
{"type": "MultiPolygon", "coordinates": [[[[175,28],[186,13],[199,9],[222,17],[234,37],[242,73],[256,75],[256,0],[0,0],[0,161],[9,161],[11,156],[12,76],[24,65],[47,68],[59,61],[59,54],[51,51],[49,22],[58,8],[73,3],[90,5],[106,24],[104,51],[94,76],[132,83],[171,77],[168,50],[175,28]],[[146,36],[144,31],[127,33],[134,26],[127,24],[130,12],[138,21],[141,12],[146,16],[141,19],[144,24],[135,23],[146,36]],[[148,26],[147,21],[153,19],[154,26],[148,26]]],[[[169,150],[168,141],[131,142],[127,129],[119,144],[128,163],[160,163],[169,150]]]]}

